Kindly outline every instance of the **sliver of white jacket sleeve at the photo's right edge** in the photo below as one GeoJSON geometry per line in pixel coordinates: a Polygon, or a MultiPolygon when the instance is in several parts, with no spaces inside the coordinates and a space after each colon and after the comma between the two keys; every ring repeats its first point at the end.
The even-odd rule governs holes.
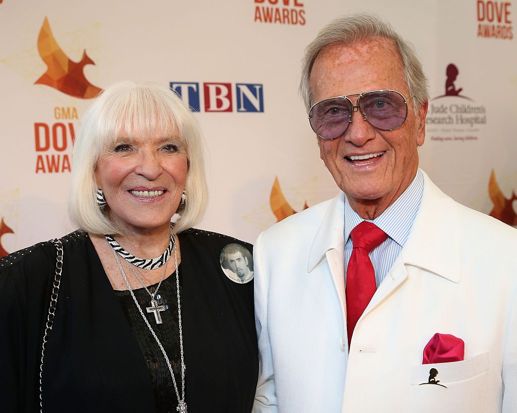
{"type": "Polygon", "coordinates": [[[508,314],[503,359],[503,413],[517,411],[517,288],[508,314]]]}

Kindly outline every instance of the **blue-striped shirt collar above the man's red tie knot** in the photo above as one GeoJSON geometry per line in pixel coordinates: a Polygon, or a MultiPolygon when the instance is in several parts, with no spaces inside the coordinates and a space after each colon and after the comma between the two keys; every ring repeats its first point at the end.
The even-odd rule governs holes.
{"type": "MultiPolygon", "coordinates": [[[[373,222],[383,230],[391,239],[401,247],[406,243],[407,237],[415,221],[415,217],[420,207],[424,187],[424,177],[420,169],[417,170],[415,178],[406,190],[373,222]]],[[[352,230],[363,220],[356,211],[352,209],[345,197],[345,225],[344,241],[348,241],[352,230]]]]}

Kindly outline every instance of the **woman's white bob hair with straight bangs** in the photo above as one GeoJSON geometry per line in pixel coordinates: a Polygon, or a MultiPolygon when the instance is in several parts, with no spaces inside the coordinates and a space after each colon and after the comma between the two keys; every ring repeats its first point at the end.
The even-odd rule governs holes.
{"type": "MultiPolygon", "coordinates": [[[[198,223],[206,209],[204,142],[196,118],[172,91],[156,83],[121,82],[105,89],[84,114],[75,138],[70,182],[69,213],[81,230],[93,234],[119,234],[97,205],[95,170],[99,157],[121,133],[147,136],[149,131],[171,133],[177,128],[188,160],[185,207],[173,231],[179,233],[198,223]]],[[[181,209],[183,208],[183,209],[181,209]]],[[[180,210],[181,209],[181,210],[180,210]]]]}

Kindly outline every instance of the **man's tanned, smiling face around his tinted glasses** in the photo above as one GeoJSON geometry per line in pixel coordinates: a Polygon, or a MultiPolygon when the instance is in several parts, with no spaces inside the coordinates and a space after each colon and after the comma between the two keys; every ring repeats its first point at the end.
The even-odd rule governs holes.
{"type": "MultiPolygon", "coordinates": [[[[311,71],[311,87],[313,103],[381,89],[397,90],[409,98],[400,57],[386,39],[323,50],[311,71]]],[[[350,99],[356,104],[357,96],[350,99]]],[[[418,169],[417,146],[424,142],[426,114],[427,104],[415,115],[410,99],[407,118],[398,129],[376,129],[358,111],[341,137],[318,137],[321,158],[359,215],[365,205],[370,210],[373,205],[375,216],[380,215],[411,183],[418,169]],[[381,155],[369,159],[350,158],[378,153],[381,155]]]]}

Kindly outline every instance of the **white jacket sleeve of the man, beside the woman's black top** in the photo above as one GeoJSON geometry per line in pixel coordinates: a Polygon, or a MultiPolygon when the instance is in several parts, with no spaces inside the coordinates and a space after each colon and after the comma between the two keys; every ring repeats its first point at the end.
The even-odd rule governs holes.
{"type": "Polygon", "coordinates": [[[253,248],[253,263],[255,269],[255,326],[258,339],[259,366],[258,383],[252,413],[272,413],[278,412],[278,402],[267,324],[269,274],[265,273],[262,263],[261,240],[262,234],[258,236],[253,248]]]}

